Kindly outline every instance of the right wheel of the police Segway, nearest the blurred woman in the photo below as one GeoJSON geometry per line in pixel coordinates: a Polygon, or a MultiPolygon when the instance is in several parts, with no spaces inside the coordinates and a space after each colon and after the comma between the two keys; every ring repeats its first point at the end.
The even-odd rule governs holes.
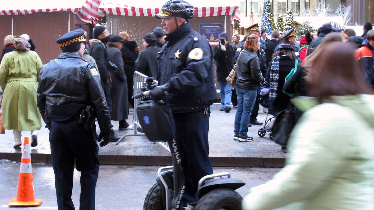
{"type": "Polygon", "coordinates": [[[195,210],[241,210],[242,199],[234,190],[217,188],[203,195],[195,210]]]}

